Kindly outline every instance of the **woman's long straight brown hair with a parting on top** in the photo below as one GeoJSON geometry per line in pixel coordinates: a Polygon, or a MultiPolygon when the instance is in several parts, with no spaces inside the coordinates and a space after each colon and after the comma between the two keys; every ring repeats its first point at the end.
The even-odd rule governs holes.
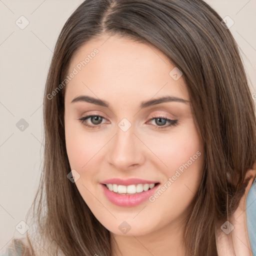
{"type": "Polygon", "coordinates": [[[237,44],[221,19],[202,0],[85,0],[68,18],[45,86],[44,165],[33,202],[36,232],[40,242],[51,242],[44,247],[50,255],[57,250],[76,256],[111,254],[109,231],[66,177],[65,89],[49,99],[74,52],[103,33],[154,45],[182,71],[205,151],[184,241],[187,255],[217,255],[216,220],[227,219],[237,207],[246,171],[256,160],[253,100],[237,44]]]}

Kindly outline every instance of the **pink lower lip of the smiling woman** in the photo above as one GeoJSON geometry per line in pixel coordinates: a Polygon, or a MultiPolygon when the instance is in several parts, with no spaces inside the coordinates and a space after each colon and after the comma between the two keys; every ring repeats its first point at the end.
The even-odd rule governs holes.
{"type": "Polygon", "coordinates": [[[147,191],[126,195],[126,194],[117,194],[113,191],[110,191],[105,185],[101,184],[101,186],[103,187],[103,192],[110,202],[118,206],[126,206],[126,207],[136,206],[141,202],[144,202],[149,198],[150,195],[152,195],[155,192],[155,190],[159,185],[160,184],[158,183],[153,188],[147,191]]]}

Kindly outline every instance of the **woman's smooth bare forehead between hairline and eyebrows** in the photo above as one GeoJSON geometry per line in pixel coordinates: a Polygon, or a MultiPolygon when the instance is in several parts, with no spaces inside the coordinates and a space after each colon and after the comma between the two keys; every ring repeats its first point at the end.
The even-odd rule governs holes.
{"type": "Polygon", "coordinates": [[[89,93],[100,98],[148,99],[154,95],[188,99],[183,77],[173,79],[175,65],[156,47],[131,39],[101,36],[83,44],[72,56],[67,97],[89,93]]]}

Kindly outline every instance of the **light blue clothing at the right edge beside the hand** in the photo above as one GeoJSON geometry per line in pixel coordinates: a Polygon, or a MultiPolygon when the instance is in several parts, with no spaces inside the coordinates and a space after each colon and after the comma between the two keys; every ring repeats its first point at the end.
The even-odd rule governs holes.
{"type": "Polygon", "coordinates": [[[256,256],[256,179],[246,198],[246,222],[252,255],[256,256]]]}

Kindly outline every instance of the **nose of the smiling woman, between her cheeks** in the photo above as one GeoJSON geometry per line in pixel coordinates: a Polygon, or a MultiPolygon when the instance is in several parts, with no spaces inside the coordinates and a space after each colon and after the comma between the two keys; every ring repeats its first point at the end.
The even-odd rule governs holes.
{"type": "Polygon", "coordinates": [[[108,143],[108,162],[118,170],[138,167],[144,162],[142,142],[133,133],[132,126],[123,131],[117,127],[116,135],[108,143]]]}

